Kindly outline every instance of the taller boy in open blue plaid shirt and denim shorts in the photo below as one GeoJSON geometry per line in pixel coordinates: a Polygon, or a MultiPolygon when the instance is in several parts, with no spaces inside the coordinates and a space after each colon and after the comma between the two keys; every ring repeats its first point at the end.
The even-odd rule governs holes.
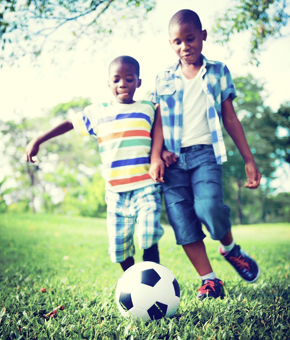
{"type": "Polygon", "coordinates": [[[202,54],[206,30],[191,10],[169,22],[170,44],[179,61],[157,75],[150,100],[160,104],[166,166],[152,164],[149,173],[162,183],[165,205],[177,244],[181,244],[202,280],[198,297],[223,297],[223,284],[207,257],[204,224],[220,253],[249,283],[260,276],[257,263],[235,244],[230,208],[223,204],[222,162],[226,161],[220,118],[245,162],[246,187],[259,186],[261,174],[249,149],[232,100],[236,97],[226,65],[202,54]]]}

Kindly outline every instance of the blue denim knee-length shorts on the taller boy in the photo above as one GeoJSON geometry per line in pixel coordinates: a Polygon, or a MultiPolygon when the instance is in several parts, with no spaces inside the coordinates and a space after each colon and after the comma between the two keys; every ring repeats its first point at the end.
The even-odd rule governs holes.
{"type": "Polygon", "coordinates": [[[212,145],[181,148],[177,162],[165,169],[162,189],[177,244],[203,239],[202,224],[214,240],[231,230],[230,208],[223,204],[222,168],[212,145]]]}

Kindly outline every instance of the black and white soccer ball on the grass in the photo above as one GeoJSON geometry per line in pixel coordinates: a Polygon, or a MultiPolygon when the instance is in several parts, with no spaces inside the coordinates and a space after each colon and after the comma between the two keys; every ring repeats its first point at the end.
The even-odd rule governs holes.
{"type": "Polygon", "coordinates": [[[171,317],[177,311],[180,289],[177,279],[156,262],[139,262],[128,268],[117,282],[116,303],[128,318],[157,320],[171,317]]]}

